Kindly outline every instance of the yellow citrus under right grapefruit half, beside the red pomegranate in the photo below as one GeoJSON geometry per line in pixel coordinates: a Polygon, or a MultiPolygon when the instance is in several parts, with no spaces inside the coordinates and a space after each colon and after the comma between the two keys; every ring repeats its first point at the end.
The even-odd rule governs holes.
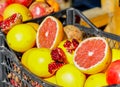
{"type": "Polygon", "coordinates": [[[105,73],[97,73],[86,79],[84,87],[104,87],[107,85],[105,73]]]}

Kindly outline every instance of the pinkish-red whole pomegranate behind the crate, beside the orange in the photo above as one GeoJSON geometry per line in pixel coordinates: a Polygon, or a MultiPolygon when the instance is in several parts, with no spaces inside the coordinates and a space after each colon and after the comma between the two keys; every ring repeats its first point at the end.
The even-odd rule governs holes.
{"type": "Polygon", "coordinates": [[[53,12],[53,8],[45,2],[35,1],[29,7],[33,18],[38,18],[53,12]]]}

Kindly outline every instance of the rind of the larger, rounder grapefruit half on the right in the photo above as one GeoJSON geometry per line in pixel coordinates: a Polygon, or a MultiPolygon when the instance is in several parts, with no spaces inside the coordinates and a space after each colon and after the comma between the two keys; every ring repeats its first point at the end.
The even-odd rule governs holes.
{"type": "Polygon", "coordinates": [[[85,39],[84,41],[82,41],[82,42],[79,44],[79,46],[78,46],[78,47],[76,48],[76,50],[75,50],[74,60],[73,60],[73,61],[74,61],[74,65],[75,65],[81,72],[83,72],[83,73],[85,73],[85,74],[95,74],[95,73],[98,73],[98,72],[101,72],[101,71],[105,70],[105,69],[108,67],[108,65],[110,64],[111,59],[112,59],[112,58],[111,58],[111,50],[110,50],[110,47],[109,47],[107,41],[106,41],[104,38],[102,38],[102,37],[91,37],[91,38],[85,39]],[[102,41],[105,43],[106,47],[105,47],[105,51],[104,51],[104,53],[105,53],[104,58],[103,58],[100,62],[98,62],[97,64],[95,64],[95,65],[93,65],[93,66],[91,66],[91,67],[89,67],[89,68],[84,68],[84,67],[82,67],[82,66],[79,66],[79,65],[77,64],[77,62],[75,61],[76,52],[78,51],[79,47],[81,47],[81,45],[82,45],[83,43],[85,43],[85,42],[88,41],[88,40],[94,40],[94,39],[100,39],[100,40],[102,40],[102,41]]]}

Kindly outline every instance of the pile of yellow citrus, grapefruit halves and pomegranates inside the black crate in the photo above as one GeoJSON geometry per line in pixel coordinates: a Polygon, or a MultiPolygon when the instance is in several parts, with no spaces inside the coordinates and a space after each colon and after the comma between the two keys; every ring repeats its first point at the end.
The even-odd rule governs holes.
{"type": "MultiPolygon", "coordinates": [[[[110,48],[106,39],[85,39],[79,28],[63,26],[53,16],[47,16],[40,24],[23,23],[20,17],[15,13],[0,26],[9,47],[22,53],[22,65],[39,78],[63,87],[120,83],[120,50],[110,48]]],[[[15,83],[17,77],[11,73],[8,77],[12,78],[11,84],[15,83]]],[[[34,87],[41,86],[36,83],[34,87]]]]}

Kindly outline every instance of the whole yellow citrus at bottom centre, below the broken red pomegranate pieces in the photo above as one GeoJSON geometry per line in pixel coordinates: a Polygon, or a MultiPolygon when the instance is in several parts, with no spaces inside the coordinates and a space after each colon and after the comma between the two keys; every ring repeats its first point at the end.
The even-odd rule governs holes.
{"type": "Polygon", "coordinates": [[[83,87],[86,76],[73,64],[62,66],[56,73],[57,84],[62,87],[83,87]]]}

